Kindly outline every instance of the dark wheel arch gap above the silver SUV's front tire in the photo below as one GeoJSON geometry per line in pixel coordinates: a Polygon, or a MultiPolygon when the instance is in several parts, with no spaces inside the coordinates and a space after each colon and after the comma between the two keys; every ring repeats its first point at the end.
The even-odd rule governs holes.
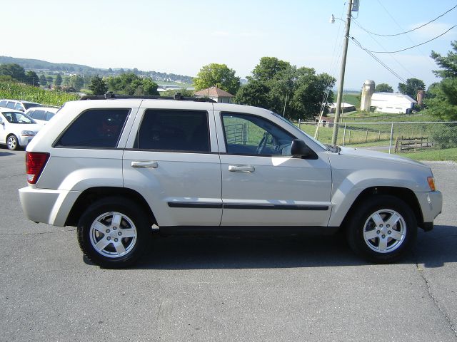
{"type": "Polygon", "coordinates": [[[416,195],[414,195],[413,190],[405,188],[405,187],[368,187],[363,190],[356,200],[352,203],[351,207],[349,207],[348,212],[341,223],[341,227],[346,227],[347,220],[351,217],[353,210],[358,207],[361,203],[366,201],[368,197],[377,196],[377,195],[391,195],[401,199],[403,202],[408,204],[413,210],[414,216],[416,217],[416,221],[418,223],[418,227],[423,228],[423,215],[421,211],[421,205],[418,202],[416,195]]]}

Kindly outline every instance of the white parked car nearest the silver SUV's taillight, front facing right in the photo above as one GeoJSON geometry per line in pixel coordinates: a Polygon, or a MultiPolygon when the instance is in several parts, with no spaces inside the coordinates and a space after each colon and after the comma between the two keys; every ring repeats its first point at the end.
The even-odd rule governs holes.
{"type": "Polygon", "coordinates": [[[9,150],[26,147],[41,127],[19,110],[0,108],[0,144],[9,150]]]}

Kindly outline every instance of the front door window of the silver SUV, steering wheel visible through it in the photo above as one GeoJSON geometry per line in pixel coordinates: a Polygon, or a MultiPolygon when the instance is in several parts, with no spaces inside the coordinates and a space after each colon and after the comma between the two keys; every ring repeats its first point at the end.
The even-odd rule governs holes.
{"type": "Polygon", "coordinates": [[[256,115],[222,113],[226,150],[241,155],[291,155],[293,135],[256,115]]]}

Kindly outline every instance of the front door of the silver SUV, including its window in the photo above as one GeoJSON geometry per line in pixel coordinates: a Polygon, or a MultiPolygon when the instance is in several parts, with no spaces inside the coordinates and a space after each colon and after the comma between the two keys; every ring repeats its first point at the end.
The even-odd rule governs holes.
{"type": "Polygon", "coordinates": [[[290,155],[295,138],[260,116],[220,113],[224,226],[326,226],[331,213],[331,168],[290,155]]]}

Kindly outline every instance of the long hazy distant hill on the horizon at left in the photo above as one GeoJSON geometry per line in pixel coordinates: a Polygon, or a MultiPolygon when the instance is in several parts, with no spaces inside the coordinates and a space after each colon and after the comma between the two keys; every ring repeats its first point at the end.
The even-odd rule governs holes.
{"type": "Polygon", "coordinates": [[[160,73],[157,71],[139,71],[138,69],[104,69],[92,68],[91,66],[84,66],[81,64],[73,63],[51,63],[41,61],[39,59],[29,58],[15,58],[8,56],[0,56],[0,64],[16,63],[24,69],[33,70],[37,73],[78,73],[81,75],[101,75],[101,76],[117,76],[124,72],[133,72],[139,76],[151,77],[154,81],[171,81],[178,83],[192,83],[191,76],[176,75],[174,73],[160,73]]]}

